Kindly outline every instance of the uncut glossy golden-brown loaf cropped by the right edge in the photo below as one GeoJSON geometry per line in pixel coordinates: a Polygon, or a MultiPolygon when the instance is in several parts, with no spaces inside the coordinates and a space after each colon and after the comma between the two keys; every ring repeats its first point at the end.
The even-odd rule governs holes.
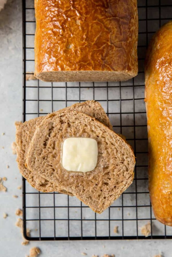
{"type": "Polygon", "coordinates": [[[172,226],[172,21],[153,36],[145,63],[149,192],[156,219],[172,226]]]}

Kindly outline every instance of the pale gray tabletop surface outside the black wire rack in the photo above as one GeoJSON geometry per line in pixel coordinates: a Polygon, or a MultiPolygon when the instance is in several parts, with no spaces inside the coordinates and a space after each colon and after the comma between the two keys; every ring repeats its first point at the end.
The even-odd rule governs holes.
{"type": "Polygon", "coordinates": [[[14,122],[21,120],[22,113],[21,24],[21,1],[9,1],[0,13],[0,177],[7,177],[4,185],[8,189],[5,193],[0,192],[0,256],[23,257],[30,247],[39,246],[42,257],[82,256],[81,252],[88,256],[114,253],[116,257],[151,257],[162,252],[165,257],[171,257],[171,240],[31,242],[28,246],[21,245],[21,234],[15,227],[15,210],[22,207],[21,190],[17,189],[21,176],[16,156],[11,154],[11,143],[15,140],[14,122]],[[13,198],[15,194],[19,197],[13,198]],[[3,219],[4,212],[9,215],[7,219],[3,219]]]}

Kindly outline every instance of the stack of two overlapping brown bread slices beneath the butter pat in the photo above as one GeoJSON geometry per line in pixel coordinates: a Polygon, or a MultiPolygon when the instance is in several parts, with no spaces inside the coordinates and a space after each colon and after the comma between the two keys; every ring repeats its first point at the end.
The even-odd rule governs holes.
{"type": "Polygon", "coordinates": [[[74,195],[101,213],[132,183],[133,151],[112,131],[98,102],[75,104],[16,126],[19,170],[39,191],[74,195]],[[61,146],[69,137],[97,141],[98,159],[94,170],[69,172],[62,167],[61,146]]]}

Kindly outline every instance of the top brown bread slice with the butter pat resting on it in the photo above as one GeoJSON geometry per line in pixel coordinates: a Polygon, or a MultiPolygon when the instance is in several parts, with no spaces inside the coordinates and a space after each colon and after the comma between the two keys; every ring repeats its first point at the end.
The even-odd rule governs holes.
{"type": "Polygon", "coordinates": [[[101,213],[132,183],[135,157],[130,145],[95,118],[77,111],[52,113],[37,127],[26,163],[30,171],[71,192],[93,211],[101,213]],[[61,165],[66,138],[97,141],[97,166],[90,172],[69,172],[61,165]]]}

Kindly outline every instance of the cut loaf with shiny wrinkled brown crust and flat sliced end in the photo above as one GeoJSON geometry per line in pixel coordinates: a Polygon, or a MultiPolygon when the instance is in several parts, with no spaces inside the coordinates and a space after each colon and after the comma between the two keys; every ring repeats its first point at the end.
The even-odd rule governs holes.
{"type": "Polygon", "coordinates": [[[35,0],[35,72],[43,81],[137,75],[136,0],[35,0]]]}

